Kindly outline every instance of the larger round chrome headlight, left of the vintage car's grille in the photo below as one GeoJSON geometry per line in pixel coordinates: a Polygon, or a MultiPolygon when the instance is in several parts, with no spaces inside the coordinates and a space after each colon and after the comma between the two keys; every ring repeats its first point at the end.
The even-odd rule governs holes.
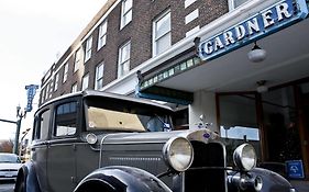
{"type": "Polygon", "coordinates": [[[176,171],[187,170],[194,161],[191,143],[184,137],[170,138],[163,147],[163,156],[168,166],[176,171]]]}

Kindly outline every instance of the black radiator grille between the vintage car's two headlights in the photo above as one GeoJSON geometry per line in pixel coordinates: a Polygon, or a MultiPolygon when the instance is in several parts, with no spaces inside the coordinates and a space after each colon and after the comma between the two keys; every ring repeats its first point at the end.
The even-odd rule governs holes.
{"type": "Polygon", "coordinates": [[[219,143],[191,144],[195,158],[190,169],[185,172],[185,191],[227,191],[224,146],[219,143]]]}

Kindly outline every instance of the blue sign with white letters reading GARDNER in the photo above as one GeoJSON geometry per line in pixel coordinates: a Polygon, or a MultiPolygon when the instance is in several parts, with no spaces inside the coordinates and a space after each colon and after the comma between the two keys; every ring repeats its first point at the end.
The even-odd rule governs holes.
{"type": "Polygon", "coordinates": [[[198,55],[210,60],[287,27],[308,14],[306,0],[282,0],[250,19],[201,42],[198,55]]]}

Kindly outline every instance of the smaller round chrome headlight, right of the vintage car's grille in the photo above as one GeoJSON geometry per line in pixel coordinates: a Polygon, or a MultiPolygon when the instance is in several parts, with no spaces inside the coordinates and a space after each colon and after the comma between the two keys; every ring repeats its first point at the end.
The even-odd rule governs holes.
{"type": "Polygon", "coordinates": [[[233,154],[235,166],[244,171],[250,171],[256,166],[256,154],[252,145],[242,144],[233,154]]]}

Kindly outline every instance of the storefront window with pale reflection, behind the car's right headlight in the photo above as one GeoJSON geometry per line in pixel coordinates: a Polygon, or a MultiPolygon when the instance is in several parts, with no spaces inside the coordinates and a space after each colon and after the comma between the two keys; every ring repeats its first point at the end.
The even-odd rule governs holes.
{"type": "Polygon", "coordinates": [[[244,142],[251,143],[261,158],[255,94],[222,94],[219,104],[220,136],[227,143],[228,165],[232,165],[232,153],[244,142]]]}

